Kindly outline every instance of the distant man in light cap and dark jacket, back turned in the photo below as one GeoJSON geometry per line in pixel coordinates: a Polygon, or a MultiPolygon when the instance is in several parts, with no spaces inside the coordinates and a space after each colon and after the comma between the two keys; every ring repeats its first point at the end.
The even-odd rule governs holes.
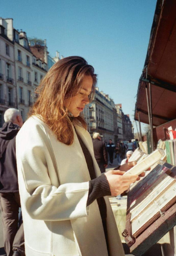
{"type": "Polygon", "coordinates": [[[95,132],[93,134],[93,147],[94,147],[94,156],[98,163],[101,173],[106,171],[108,166],[108,153],[106,150],[105,143],[101,141],[103,136],[100,133],[95,132]]]}

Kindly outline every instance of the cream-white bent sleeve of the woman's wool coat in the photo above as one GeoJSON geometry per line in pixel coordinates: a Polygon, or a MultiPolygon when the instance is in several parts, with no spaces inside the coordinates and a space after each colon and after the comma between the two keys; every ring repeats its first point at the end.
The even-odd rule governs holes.
{"type": "Polygon", "coordinates": [[[27,121],[16,138],[22,212],[24,209],[31,218],[46,221],[87,216],[89,182],[56,185],[59,181],[47,139],[42,125],[30,129],[27,121]]]}

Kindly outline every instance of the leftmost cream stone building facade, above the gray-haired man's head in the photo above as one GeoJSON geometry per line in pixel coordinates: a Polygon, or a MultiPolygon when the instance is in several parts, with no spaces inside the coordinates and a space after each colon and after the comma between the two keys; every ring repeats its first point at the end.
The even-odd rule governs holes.
{"type": "Polygon", "coordinates": [[[6,109],[17,108],[13,30],[9,28],[12,28],[12,20],[0,18],[0,127],[6,109]]]}

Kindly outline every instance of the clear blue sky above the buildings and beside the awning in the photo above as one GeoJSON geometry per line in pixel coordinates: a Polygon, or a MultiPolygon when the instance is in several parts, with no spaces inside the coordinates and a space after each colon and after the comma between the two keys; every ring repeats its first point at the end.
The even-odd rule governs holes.
{"type": "MultiPolygon", "coordinates": [[[[54,57],[79,55],[94,66],[98,87],[133,114],[156,0],[1,0],[15,29],[46,39],[54,57]]],[[[135,132],[136,130],[136,125],[135,132]]]]}

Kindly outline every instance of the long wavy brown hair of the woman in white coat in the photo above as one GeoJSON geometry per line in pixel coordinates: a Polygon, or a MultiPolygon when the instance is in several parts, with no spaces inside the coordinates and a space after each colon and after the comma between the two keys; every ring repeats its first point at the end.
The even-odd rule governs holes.
{"type": "MultiPolygon", "coordinates": [[[[69,103],[82,88],[84,76],[92,76],[93,86],[89,101],[93,99],[95,85],[97,82],[94,68],[79,56],[70,56],[56,62],[46,73],[37,87],[35,93],[37,100],[30,110],[31,115],[40,115],[42,120],[53,131],[58,141],[71,145],[74,133],[68,118],[69,105],[64,106],[65,99],[69,103]]],[[[83,116],[74,118],[74,122],[87,128],[83,116]]]]}

